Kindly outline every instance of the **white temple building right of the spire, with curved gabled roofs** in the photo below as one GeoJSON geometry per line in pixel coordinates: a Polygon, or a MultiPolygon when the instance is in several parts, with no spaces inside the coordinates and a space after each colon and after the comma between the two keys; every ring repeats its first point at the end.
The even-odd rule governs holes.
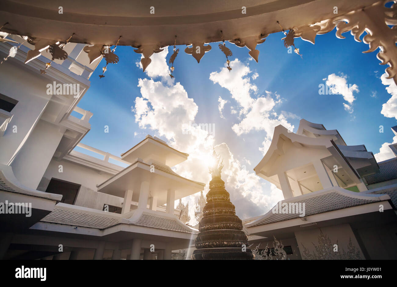
{"type": "Polygon", "coordinates": [[[276,126],[254,170],[285,199],[243,220],[252,248],[275,237],[287,259],[397,259],[397,157],[377,163],[364,145],[302,119],[296,134],[276,126]],[[337,251],[317,254],[326,244],[337,251]]]}

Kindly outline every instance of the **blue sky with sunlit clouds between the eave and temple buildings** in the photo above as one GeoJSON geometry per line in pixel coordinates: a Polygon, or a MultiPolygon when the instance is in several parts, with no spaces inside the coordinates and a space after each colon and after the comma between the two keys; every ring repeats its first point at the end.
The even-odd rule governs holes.
{"type": "MultiPolygon", "coordinates": [[[[225,79],[227,87],[221,86],[223,79],[235,75],[222,72],[222,69],[225,71],[226,58],[218,48],[218,43],[210,43],[212,50],[202,57],[199,64],[184,52],[186,46],[177,46],[180,51],[174,62],[173,82],[170,82],[169,76],[164,76],[168,75],[168,72],[164,71],[166,51],[152,55],[152,63],[144,73],[137,65],[141,54],[133,52],[132,47],[118,46],[116,54],[119,56],[119,63],[109,64],[108,70],[104,73],[106,77],[100,79],[98,75],[102,73],[102,67],[105,65],[102,60],[90,78],[91,88],[78,104],[94,114],[90,120],[91,131],[81,142],[120,155],[145,138],[146,134],[158,136],[170,142],[173,147],[191,154],[193,159],[190,161],[189,157],[187,163],[178,165],[175,170],[183,176],[205,182],[207,186],[208,170],[205,170],[203,159],[208,157],[200,157],[200,153],[207,154],[210,145],[217,146],[217,152],[229,159],[230,164],[225,166],[227,170],[222,179],[226,182],[226,189],[231,193],[237,215],[247,218],[263,214],[282,199],[281,191],[253,173],[254,166],[263,157],[264,140],[272,136],[274,127],[271,126],[272,123],[270,126],[266,124],[269,122],[268,119],[273,119],[274,122],[282,121],[280,115],[283,115],[283,121],[293,125],[294,132],[297,131],[301,118],[322,123],[327,129],[337,129],[348,145],[364,144],[368,151],[374,154],[380,152],[384,143],[393,142],[394,134],[390,128],[396,125],[397,115],[393,115],[395,108],[389,107],[389,117],[381,113],[382,105],[392,96],[381,80],[386,66],[379,65],[380,61],[376,58],[378,50],[364,54],[362,51],[368,50],[367,44],[356,42],[350,33],[345,33],[344,36],[346,39],[336,38],[334,29],[330,33],[317,35],[315,45],[296,38],[295,46],[303,55],[301,58],[295,53],[287,53],[287,48],[281,40],[282,33],[270,34],[263,44],[256,47],[260,51],[258,63],[248,55],[247,48],[239,48],[226,42],[226,46],[233,52],[233,56],[230,57],[230,74],[243,75],[231,82],[230,79],[225,79]],[[243,72],[248,70],[249,73],[243,72]],[[211,73],[214,73],[212,80],[211,73]],[[256,73],[258,76],[252,77],[256,73]],[[332,74],[339,80],[345,79],[347,84],[357,86],[356,91],[352,92],[355,98],[352,103],[348,103],[338,94],[319,95],[319,84],[326,84],[324,79],[332,74]],[[140,86],[139,79],[142,79],[140,86]],[[234,84],[238,85],[240,80],[251,89],[242,89],[233,94],[230,89],[233,89],[234,84]],[[180,84],[177,84],[178,82],[180,84]],[[150,94],[148,89],[153,88],[153,85],[157,85],[158,95],[150,94]],[[165,105],[173,101],[173,98],[161,98],[160,94],[172,89],[179,95],[175,97],[175,101],[180,101],[179,108],[172,108],[175,108],[175,111],[183,111],[180,115],[173,112],[161,117],[164,114],[158,105],[165,105]],[[157,96],[159,99],[156,99],[157,96]],[[246,111],[241,112],[241,101],[236,99],[246,96],[251,101],[268,97],[264,105],[272,102],[272,107],[268,113],[265,112],[265,116],[255,116],[256,121],[263,121],[256,127],[242,124],[254,109],[252,104],[246,111]],[[140,103],[145,104],[147,108],[137,110],[137,97],[141,98],[140,103]],[[224,118],[220,117],[218,109],[219,97],[227,101],[222,110],[224,118]],[[343,103],[349,104],[353,111],[350,113],[345,110],[343,103]],[[195,108],[197,113],[192,112],[195,108]],[[147,114],[148,109],[153,111],[154,117],[147,114]],[[236,113],[231,114],[232,110],[236,113]],[[141,117],[143,114],[145,120],[141,117]],[[178,131],[173,130],[172,126],[178,119],[193,119],[196,123],[214,124],[214,133],[200,134],[193,139],[175,135],[178,131]],[[109,133],[104,133],[105,125],[109,126],[109,133]],[[384,133],[379,132],[380,125],[384,126],[384,133]],[[271,132],[268,132],[269,130],[271,132]],[[200,165],[195,161],[200,162],[200,165]],[[197,168],[204,171],[200,172],[197,168]]],[[[172,47],[169,47],[167,63],[171,54],[172,47]]],[[[394,86],[391,89],[394,89],[394,86]]],[[[386,146],[384,145],[384,150],[386,146]]],[[[389,154],[386,152],[382,156],[379,158],[385,159],[389,154]]],[[[189,206],[193,207],[195,198],[197,195],[184,201],[190,200],[189,206]]]]}

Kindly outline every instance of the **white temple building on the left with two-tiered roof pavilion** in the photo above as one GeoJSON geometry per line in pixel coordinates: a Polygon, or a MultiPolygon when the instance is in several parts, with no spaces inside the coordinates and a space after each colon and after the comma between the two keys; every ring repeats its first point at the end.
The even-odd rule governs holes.
{"type": "MultiPolygon", "coordinates": [[[[44,75],[39,68],[51,55],[43,51],[24,64],[33,48],[26,42],[0,66],[0,202],[32,208],[29,217],[3,210],[0,258],[171,259],[197,233],[179,220],[174,201],[205,184],[173,172],[189,155],[150,135],[121,157],[80,143],[93,114],[77,103],[100,61],[89,64],[84,46],[67,44],[69,57],[44,75]],[[78,93],[71,93],[73,85],[66,94],[48,93],[48,84],[72,83],[79,83],[78,93]]],[[[2,57],[10,47],[0,42],[2,57]]]]}

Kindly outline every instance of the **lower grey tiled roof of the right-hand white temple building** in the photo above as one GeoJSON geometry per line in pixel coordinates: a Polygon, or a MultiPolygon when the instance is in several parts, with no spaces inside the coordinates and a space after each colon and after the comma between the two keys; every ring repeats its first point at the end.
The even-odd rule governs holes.
{"type": "MultiPolygon", "coordinates": [[[[378,197],[370,199],[370,197],[365,197],[364,195],[363,198],[351,197],[347,194],[333,191],[328,193],[320,193],[317,196],[312,196],[309,198],[304,197],[302,199],[293,201],[293,203],[305,203],[305,216],[309,216],[332,210],[373,203],[376,201],[380,201],[380,199],[378,197]]],[[[272,210],[270,210],[267,214],[265,214],[262,220],[259,220],[251,226],[264,225],[293,218],[299,218],[299,214],[272,213],[272,210]]]]}

